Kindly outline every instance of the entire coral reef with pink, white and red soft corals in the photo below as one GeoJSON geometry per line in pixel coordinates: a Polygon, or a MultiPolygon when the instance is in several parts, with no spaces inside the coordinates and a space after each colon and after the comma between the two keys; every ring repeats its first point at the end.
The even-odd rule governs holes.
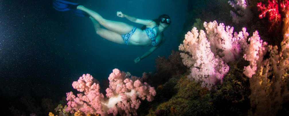
{"type": "MultiPolygon", "coordinates": [[[[232,0],[229,3],[224,0],[189,0],[188,16],[178,38],[181,51],[172,51],[168,58],[157,57],[155,73],[144,73],[142,78],[128,78],[124,72],[114,71],[114,75],[119,74],[122,78],[122,81],[114,81],[122,83],[109,82],[108,98],[97,91],[98,82],[93,79],[89,81],[90,88],[82,88],[86,84],[76,87],[84,94],[68,99],[70,102],[80,99],[77,103],[81,105],[76,104],[74,115],[98,115],[95,109],[81,109],[84,103],[91,107],[88,102],[93,101],[83,98],[89,96],[86,91],[94,91],[92,97],[98,99],[98,103],[108,101],[113,98],[111,96],[122,96],[123,101],[114,104],[114,108],[102,105],[101,109],[106,108],[104,111],[112,109],[110,115],[288,115],[289,24],[286,15],[289,2],[269,0],[264,3],[266,0],[232,0]],[[228,17],[230,13],[231,17],[228,17]],[[264,17],[268,21],[260,19],[264,17]],[[191,29],[194,22],[200,26],[196,18],[224,23],[202,22],[203,29],[191,29]],[[269,27],[266,26],[268,22],[269,27]],[[234,27],[225,24],[241,31],[234,32],[234,27]],[[274,33],[267,33],[268,30],[274,33]],[[123,94],[133,91],[124,84],[131,82],[127,79],[152,83],[158,94],[149,92],[149,99],[140,105],[140,100],[132,100],[123,94]],[[116,92],[118,90],[121,92],[116,92]],[[148,102],[151,97],[153,102],[148,102]]],[[[72,103],[69,105],[73,106],[72,103]]]]}

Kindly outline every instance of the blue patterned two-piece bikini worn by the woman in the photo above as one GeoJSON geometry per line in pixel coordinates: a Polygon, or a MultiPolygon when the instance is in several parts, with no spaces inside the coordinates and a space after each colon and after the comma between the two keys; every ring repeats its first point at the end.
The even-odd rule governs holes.
{"type": "MultiPolygon", "coordinates": [[[[151,46],[158,46],[159,43],[155,40],[155,31],[153,31],[153,28],[146,28],[144,31],[147,33],[147,37],[151,39],[151,46]]],[[[123,41],[125,42],[125,45],[129,45],[129,39],[131,38],[131,35],[133,35],[135,31],[136,27],[134,26],[129,33],[121,35],[123,41]]]]}

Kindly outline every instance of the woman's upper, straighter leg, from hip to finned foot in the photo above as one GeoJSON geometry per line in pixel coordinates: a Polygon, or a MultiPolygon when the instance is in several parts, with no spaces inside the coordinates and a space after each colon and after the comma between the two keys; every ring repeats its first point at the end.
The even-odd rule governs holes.
{"type": "Polygon", "coordinates": [[[102,16],[100,16],[97,12],[94,12],[94,11],[92,11],[92,10],[82,6],[82,5],[77,6],[77,9],[80,9],[80,10],[86,12],[92,18],[97,20],[97,22],[99,22],[102,26],[104,26],[105,28],[109,29],[110,31],[116,32],[120,35],[129,33],[133,28],[133,26],[126,24],[126,23],[123,23],[123,22],[106,20],[106,19],[102,18],[102,16]]]}

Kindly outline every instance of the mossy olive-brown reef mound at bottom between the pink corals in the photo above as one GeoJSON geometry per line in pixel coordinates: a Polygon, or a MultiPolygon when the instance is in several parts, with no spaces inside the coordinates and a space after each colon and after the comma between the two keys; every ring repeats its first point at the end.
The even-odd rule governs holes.
{"type": "Polygon", "coordinates": [[[214,114],[214,107],[212,106],[212,102],[210,102],[210,92],[208,90],[201,88],[201,86],[194,81],[189,81],[186,76],[182,76],[177,80],[177,84],[173,88],[165,84],[164,86],[166,87],[162,89],[166,90],[170,87],[170,90],[173,89],[177,91],[177,93],[167,102],[161,103],[156,109],[151,109],[148,116],[214,114]]]}

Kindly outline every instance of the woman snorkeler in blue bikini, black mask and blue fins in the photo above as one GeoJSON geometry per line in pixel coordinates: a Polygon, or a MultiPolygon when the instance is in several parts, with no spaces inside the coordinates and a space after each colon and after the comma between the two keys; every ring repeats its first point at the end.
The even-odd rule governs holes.
{"type": "MultiPolygon", "coordinates": [[[[156,20],[144,20],[128,16],[122,12],[117,12],[118,17],[127,18],[131,22],[143,24],[146,26],[144,30],[131,26],[124,22],[112,21],[102,18],[97,12],[94,12],[83,5],[71,3],[62,0],[53,0],[53,7],[60,11],[71,9],[79,9],[83,11],[84,16],[89,17],[95,27],[96,33],[114,43],[129,45],[129,46],[152,46],[142,56],[134,59],[135,63],[140,62],[143,58],[149,56],[165,41],[163,31],[171,24],[171,18],[163,14],[156,20]],[[63,10],[64,9],[64,10],[63,10]],[[105,28],[101,28],[102,25],[105,28]]],[[[81,14],[79,11],[73,11],[76,14],[81,14]]]]}

